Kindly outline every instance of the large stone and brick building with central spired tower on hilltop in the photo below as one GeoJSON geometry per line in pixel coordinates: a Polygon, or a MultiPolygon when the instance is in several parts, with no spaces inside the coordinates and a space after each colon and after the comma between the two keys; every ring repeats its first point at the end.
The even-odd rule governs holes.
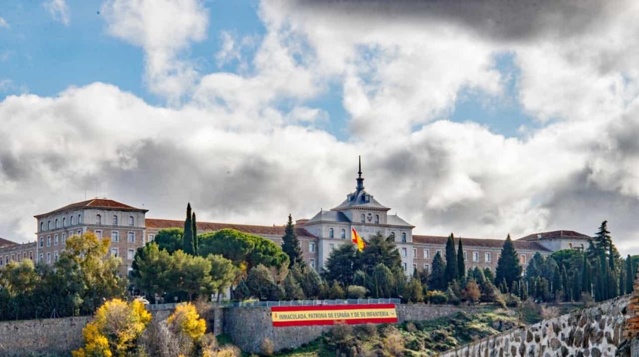
{"type": "MultiPolygon", "coordinates": [[[[415,269],[428,270],[437,252],[443,257],[445,236],[413,234],[415,226],[397,215],[389,215],[390,208],[383,206],[373,195],[364,190],[362,170],[358,171],[355,191],[346,195],[341,204],[328,211],[320,210],[311,219],[296,221],[296,232],[302,245],[305,261],[316,269],[323,268],[328,255],[342,244],[351,243],[351,229],[370,238],[381,232],[394,236],[406,274],[415,269]]],[[[152,241],[160,229],[181,228],[181,220],[146,218],[147,209],[134,208],[110,199],[90,199],[36,215],[36,241],[17,244],[0,239],[0,266],[9,261],[35,259],[53,263],[65,250],[66,239],[74,234],[92,231],[98,237],[111,239],[109,254],[122,259],[121,272],[131,269],[135,250],[152,241]]],[[[257,234],[281,244],[283,225],[247,225],[197,222],[198,232],[213,232],[232,228],[257,234]]],[[[513,241],[523,266],[539,252],[548,255],[560,249],[584,249],[589,236],[574,231],[553,231],[529,234],[513,241]]],[[[466,267],[491,268],[504,244],[503,239],[461,238],[466,267]]]]}

